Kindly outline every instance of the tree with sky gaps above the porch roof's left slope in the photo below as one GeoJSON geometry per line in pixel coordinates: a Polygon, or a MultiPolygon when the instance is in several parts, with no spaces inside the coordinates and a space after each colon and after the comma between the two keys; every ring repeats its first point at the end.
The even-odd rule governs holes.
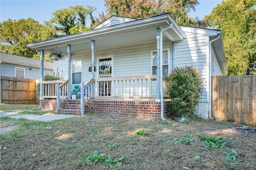
{"type": "Polygon", "coordinates": [[[45,22],[46,25],[54,27],[58,30],[60,35],[75,34],[78,32],[84,32],[90,30],[90,27],[86,27],[86,18],[90,18],[91,25],[94,24],[94,18],[92,12],[97,8],[87,5],[70,6],[69,8],[64,8],[56,10],[53,12],[53,17],[50,21],[45,22]]]}

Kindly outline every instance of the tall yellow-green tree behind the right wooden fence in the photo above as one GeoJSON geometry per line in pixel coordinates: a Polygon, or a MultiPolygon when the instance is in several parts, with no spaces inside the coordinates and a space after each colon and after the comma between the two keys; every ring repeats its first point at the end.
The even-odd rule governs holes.
{"type": "Polygon", "coordinates": [[[256,73],[256,0],[225,0],[205,16],[222,30],[229,75],[256,73]]]}

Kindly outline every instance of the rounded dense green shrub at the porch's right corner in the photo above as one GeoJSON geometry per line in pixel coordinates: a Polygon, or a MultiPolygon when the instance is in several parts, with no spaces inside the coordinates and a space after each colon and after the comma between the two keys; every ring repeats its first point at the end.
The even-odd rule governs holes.
{"type": "Polygon", "coordinates": [[[168,75],[166,94],[170,96],[170,117],[192,117],[200,101],[203,79],[192,66],[176,68],[168,75]]]}

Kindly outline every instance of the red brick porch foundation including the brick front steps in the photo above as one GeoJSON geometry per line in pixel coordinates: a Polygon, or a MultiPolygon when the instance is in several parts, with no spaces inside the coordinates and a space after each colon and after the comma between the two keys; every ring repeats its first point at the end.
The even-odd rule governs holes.
{"type": "MultiPolygon", "coordinates": [[[[80,115],[80,101],[68,100],[58,113],[80,115]],[[66,109],[66,110],[65,110],[66,109]],[[78,110],[76,110],[78,109],[78,110]],[[69,113],[70,112],[70,113],[69,113]],[[78,113],[79,112],[79,113],[78,113]]],[[[56,110],[56,100],[40,100],[42,110],[56,110]],[[50,106],[49,106],[50,103],[50,106]]],[[[136,116],[143,118],[161,118],[160,102],[154,101],[103,101],[94,100],[84,107],[85,113],[92,111],[97,115],[136,116]]],[[[168,116],[168,102],[164,102],[164,117],[168,116]]]]}

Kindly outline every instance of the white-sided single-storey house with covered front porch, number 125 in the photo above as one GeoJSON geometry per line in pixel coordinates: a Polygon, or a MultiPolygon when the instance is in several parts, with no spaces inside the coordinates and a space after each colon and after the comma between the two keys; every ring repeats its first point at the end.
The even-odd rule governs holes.
{"type": "Polygon", "coordinates": [[[227,74],[221,31],[179,26],[169,13],[138,20],[112,16],[90,31],[27,46],[40,50],[42,58],[44,51],[56,47],[66,55],[54,61],[64,80],[54,85],[43,81],[40,98],[42,109],[51,103],[65,114],[83,115],[90,109],[164,119],[170,100],[164,93],[166,71],[193,65],[204,78],[197,114],[206,118],[211,112],[211,76],[227,74]],[[85,89],[79,100],[70,100],[74,85],[85,89]],[[50,88],[60,90],[52,94],[50,88]],[[44,100],[49,96],[57,100],[44,100]]]}

